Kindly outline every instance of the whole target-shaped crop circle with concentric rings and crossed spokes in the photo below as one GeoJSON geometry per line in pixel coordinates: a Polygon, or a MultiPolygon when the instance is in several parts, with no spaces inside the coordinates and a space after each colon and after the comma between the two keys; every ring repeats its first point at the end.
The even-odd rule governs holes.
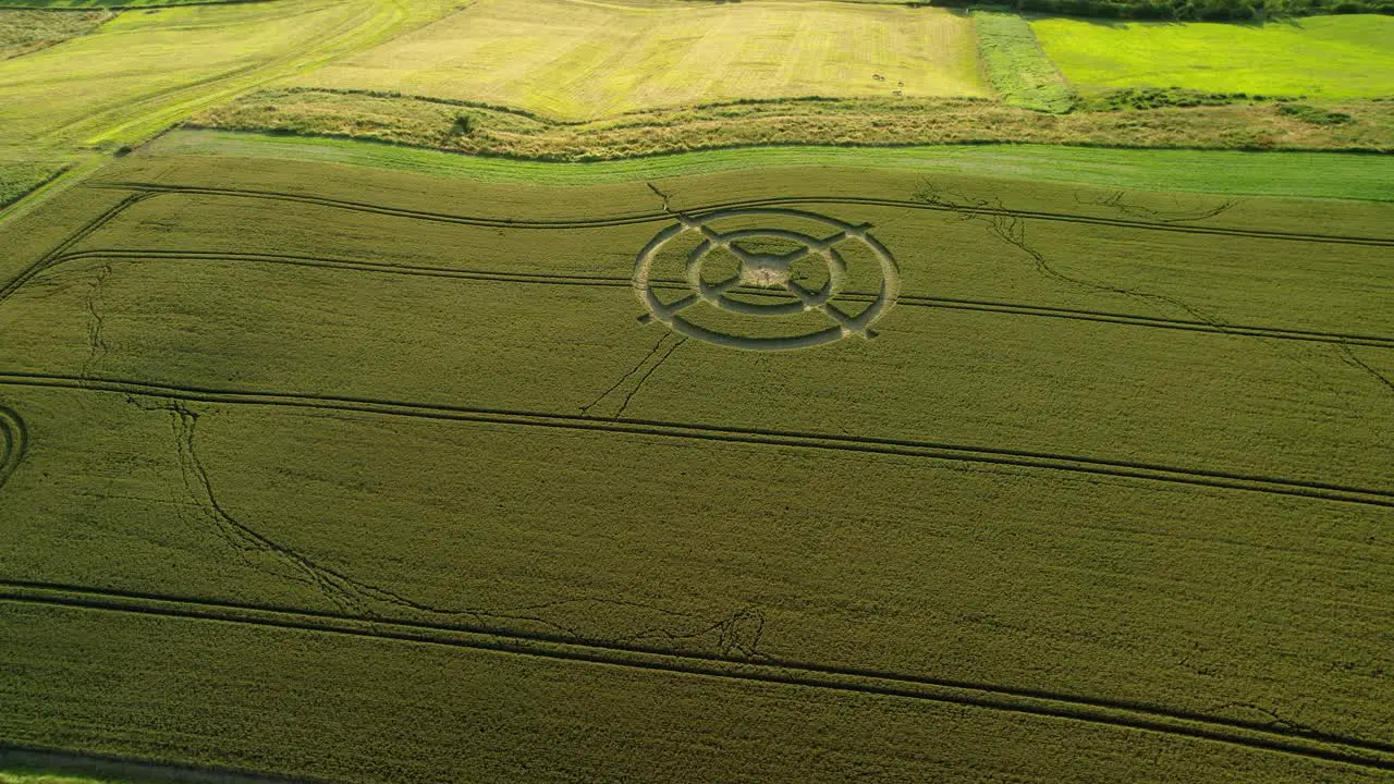
{"type": "MultiPolygon", "coordinates": [[[[705,212],[701,215],[677,215],[677,222],[665,227],[638,252],[634,261],[634,293],[640,301],[648,307],[644,321],[659,321],[679,335],[757,352],[776,352],[789,349],[806,349],[821,346],[850,338],[873,338],[875,332],[871,325],[880,319],[895,304],[901,289],[899,266],[895,258],[875,237],[868,233],[870,226],[853,225],[827,215],[804,212],[800,209],[783,208],[730,208],[705,212]],[[815,222],[827,226],[829,233],[815,237],[804,232],[789,229],[736,229],[721,232],[712,223],[730,218],[768,218],[797,219],[802,222],[815,222]],[[687,254],[683,269],[683,283],[690,293],[679,300],[665,303],[655,292],[652,278],[654,259],[669,241],[689,233],[701,237],[701,243],[687,254]],[[740,240],[772,239],[790,243],[796,250],[785,254],[751,252],[742,248],[740,240]],[[856,315],[849,315],[835,300],[843,293],[848,278],[848,264],[836,246],[842,243],[860,243],[870,250],[880,265],[881,287],[871,299],[870,304],[856,315]],[[712,251],[723,250],[739,262],[733,275],[723,280],[711,282],[704,276],[708,271],[708,261],[712,251]],[[817,259],[827,269],[827,280],[817,289],[804,287],[793,276],[793,265],[804,259],[817,259]],[[728,296],[737,287],[744,293],[786,294],[789,299],[772,304],[750,303],[728,296]],[[694,306],[707,306],[726,312],[751,318],[779,318],[795,317],[809,311],[817,311],[831,321],[825,329],[815,329],[803,335],[788,338],[757,338],[739,335],[735,332],[719,332],[708,329],[684,318],[682,311],[694,306]]],[[[673,280],[665,280],[672,287],[673,280]]],[[[864,293],[861,294],[866,296],[864,293]]],[[[859,301],[857,304],[861,304],[859,301]]]]}

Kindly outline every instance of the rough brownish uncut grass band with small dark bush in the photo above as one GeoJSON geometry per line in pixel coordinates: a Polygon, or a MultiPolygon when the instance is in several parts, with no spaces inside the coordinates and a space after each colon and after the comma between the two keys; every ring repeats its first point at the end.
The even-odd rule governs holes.
{"type": "Polygon", "coordinates": [[[549,123],[485,106],[323,91],[272,91],[192,124],[332,135],[542,160],[604,160],[753,145],[1073,144],[1207,149],[1394,149],[1394,102],[1326,102],[1349,123],[1271,105],[1043,114],[981,99],[776,100],[549,123]],[[461,120],[463,119],[463,120],[461,120]]]}

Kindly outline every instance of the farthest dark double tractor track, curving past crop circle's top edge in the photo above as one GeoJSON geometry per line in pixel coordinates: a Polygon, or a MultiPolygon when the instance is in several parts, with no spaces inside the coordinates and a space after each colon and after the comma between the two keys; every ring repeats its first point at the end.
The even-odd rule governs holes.
{"type": "MultiPolygon", "coordinates": [[[[291,194],[282,191],[206,188],[206,187],[192,187],[192,186],[162,186],[158,183],[112,183],[112,181],[91,183],[89,187],[141,191],[152,195],[178,193],[178,194],[290,201],[300,204],[316,204],[321,206],[333,206],[340,209],[351,209],[357,212],[393,215],[397,218],[415,218],[421,220],[434,220],[439,223],[460,223],[464,226],[488,226],[498,229],[572,229],[572,227],[590,229],[590,227],[604,227],[604,226],[631,226],[636,223],[652,223],[658,220],[669,220],[673,218],[673,215],[676,215],[675,212],[669,211],[657,211],[657,212],[640,212],[634,215],[613,216],[613,218],[588,218],[576,220],[521,220],[521,219],[507,219],[507,218],[471,218],[467,215],[447,215],[438,212],[425,212],[420,209],[400,209],[393,206],[374,205],[368,202],[335,199],[335,198],[315,197],[307,194],[291,194]]],[[[1294,240],[1306,243],[1394,247],[1394,237],[1310,234],[1301,232],[1235,229],[1227,226],[1189,226],[1179,223],[1156,223],[1150,220],[1129,220],[1121,218],[1098,218],[1093,215],[1075,215],[1068,212],[1040,212],[1030,209],[1005,209],[1005,208],[976,206],[976,205],[944,205],[944,204],[930,204],[926,201],[914,201],[914,199],[894,199],[894,198],[875,198],[875,197],[778,197],[778,198],[761,198],[761,199],[742,199],[742,201],[704,204],[683,209],[680,212],[683,215],[703,215],[705,212],[712,212],[718,209],[737,209],[737,208],[751,208],[751,206],[790,206],[790,205],[810,205],[810,204],[901,206],[907,209],[926,209],[931,212],[948,212],[955,215],[1005,215],[1012,218],[1027,218],[1037,220],[1118,226],[1124,229],[1149,229],[1154,232],[1179,232],[1186,234],[1223,234],[1232,237],[1253,237],[1264,240],[1294,240]]]]}

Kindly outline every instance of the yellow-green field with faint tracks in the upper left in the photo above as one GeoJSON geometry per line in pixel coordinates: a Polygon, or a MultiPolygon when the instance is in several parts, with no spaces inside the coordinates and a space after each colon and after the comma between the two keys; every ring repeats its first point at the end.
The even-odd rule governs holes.
{"type": "Polygon", "coordinates": [[[0,61],[0,127],[15,146],[144,141],[266,80],[390,36],[442,0],[277,0],[121,14],[0,61]]]}

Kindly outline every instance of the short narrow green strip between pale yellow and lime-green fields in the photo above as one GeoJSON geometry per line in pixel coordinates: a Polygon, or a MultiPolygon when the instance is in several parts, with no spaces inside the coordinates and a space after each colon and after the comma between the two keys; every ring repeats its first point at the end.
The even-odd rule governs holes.
{"type": "Polygon", "coordinates": [[[977,52],[993,89],[1011,106],[1069,112],[1075,95],[1020,14],[973,11],[977,52]]]}

